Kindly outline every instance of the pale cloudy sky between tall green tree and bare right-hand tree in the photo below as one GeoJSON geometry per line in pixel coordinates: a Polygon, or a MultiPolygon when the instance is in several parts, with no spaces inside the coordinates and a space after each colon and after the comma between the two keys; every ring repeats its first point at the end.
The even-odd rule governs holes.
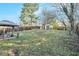
{"type": "Polygon", "coordinates": [[[67,17],[64,15],[63,12],[61,12],[61,10],[56,6],[56,4],[52,3],[42,3],[42,4],[39,4],[39,10],[36,11],[36,14],[38,16],[40,16],[42,19],[42,21],[44,20],[43,19],[43,16],[42,16],[42,10],[43,8],[46,8],[47,10],[51,11],[52,14],[56,15],[56,18],[58,20],[65,20],[67,19],[67,17]]]}

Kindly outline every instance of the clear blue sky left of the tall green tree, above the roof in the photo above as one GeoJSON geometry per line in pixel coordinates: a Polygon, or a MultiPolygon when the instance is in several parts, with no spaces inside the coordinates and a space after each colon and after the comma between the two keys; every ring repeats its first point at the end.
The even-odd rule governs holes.
{"type": "Polygon", "coordinates": [[[19,24],[22,7],[20,3],[0,3],[0,21],[9,20],[19,24]]]}

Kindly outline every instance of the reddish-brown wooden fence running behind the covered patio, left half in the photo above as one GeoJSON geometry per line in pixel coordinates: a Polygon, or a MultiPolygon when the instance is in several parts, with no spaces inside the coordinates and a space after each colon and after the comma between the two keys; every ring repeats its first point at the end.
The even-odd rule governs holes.
{"type": "MultiPolygon", "coordinates": [[[[23,30],[32,30],[32,29],[40,29],[40,26],[20,26],[15,27],[14,31],[23,31],[23,30]]],[[[12,28],[5,28],[5,33],[12,32],[12,28]]],[[[0,35],[3,33],[3,29],[0,29],[0,35]]]]}

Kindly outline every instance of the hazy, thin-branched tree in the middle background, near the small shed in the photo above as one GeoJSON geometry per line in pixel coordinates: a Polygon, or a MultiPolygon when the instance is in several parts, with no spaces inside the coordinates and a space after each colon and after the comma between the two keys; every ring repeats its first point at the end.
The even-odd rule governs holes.
{"type": "Polygon", "coordinates": [[[52,23],[53,19],[55,18],[55,15],[53,15],[53,13],[48,11],[46,8],[43,9],[42,14],[44,16],[43,28],[44,29],[46,29],[47,27],[49,28],[50,24],[52,23]],[[46,25],[48,25],[48,26],[46,26],[46,25]]]}

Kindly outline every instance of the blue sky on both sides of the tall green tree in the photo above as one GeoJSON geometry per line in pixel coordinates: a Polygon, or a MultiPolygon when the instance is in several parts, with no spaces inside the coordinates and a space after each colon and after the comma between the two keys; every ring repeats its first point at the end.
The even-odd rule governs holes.
{"type": "MultiPolygon", "coordinates": [[[[54,5],[52,5],[54,6],[54,5]]],[[[39,9],[35,12],[36,15],[41,15],[43,8],[56,11],[56,7],[52,7],[48,3],[39,4],[39,9]]],[[[20,15],[23,8],[23,3],[0,3],[0,21],[9,20],[16,24],[20,24],[20,15]]]]}

